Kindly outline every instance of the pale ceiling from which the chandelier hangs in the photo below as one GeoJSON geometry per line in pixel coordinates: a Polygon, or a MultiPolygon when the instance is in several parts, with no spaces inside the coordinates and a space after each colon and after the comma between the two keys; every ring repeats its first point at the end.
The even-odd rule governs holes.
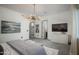
{"type": "MultiPolygon", "coordinates": [[[[25,15],[34,14],[34,4],[0,4],[1,7],[20,12],[25,15]]],[[[35,4],[36,14],[39,16],[51,15],[71,10],[70,4],[35,4]]]]}

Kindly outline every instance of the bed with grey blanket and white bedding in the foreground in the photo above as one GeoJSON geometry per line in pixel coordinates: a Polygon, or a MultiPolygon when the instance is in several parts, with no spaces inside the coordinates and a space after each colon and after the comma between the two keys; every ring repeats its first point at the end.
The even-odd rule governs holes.
{"type": "Polygon", "coordinates": [[[4,55],[57,55],[58,50],[51,49],[32,40],[13,40],[1,44],[4,55]]]}

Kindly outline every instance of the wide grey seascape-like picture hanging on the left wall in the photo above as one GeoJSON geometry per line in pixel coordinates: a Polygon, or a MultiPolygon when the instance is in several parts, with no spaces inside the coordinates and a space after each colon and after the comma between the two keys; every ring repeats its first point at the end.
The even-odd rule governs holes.
{"type": "Polygon", "coordinates": [[[20,33],[21,24],[12,21],[1,21],[1,33],[20,33]]]}

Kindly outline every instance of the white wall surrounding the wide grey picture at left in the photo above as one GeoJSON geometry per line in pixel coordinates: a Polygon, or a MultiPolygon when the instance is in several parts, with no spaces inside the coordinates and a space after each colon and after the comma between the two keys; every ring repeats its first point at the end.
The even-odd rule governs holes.
{"type": "Polygon", "coordinates": [[[0,42],[7,42],[10,40],[17,39],[29,39],[29,21],[24,19],[20,13],[9,10],[7,8],[0,7],[0,42]],[[20,33],[11,33],[11,34],[1,34],[1,21],[13,21],[21,23],[21,32],[20,33]]]}

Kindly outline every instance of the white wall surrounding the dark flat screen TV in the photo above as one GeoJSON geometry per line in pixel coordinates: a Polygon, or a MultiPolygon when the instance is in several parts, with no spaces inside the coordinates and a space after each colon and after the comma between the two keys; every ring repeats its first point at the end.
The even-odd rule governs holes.
{"type": "Polygon", "coordinates": [[[68,35],[72,35],[72,12],[65,11],[52,16],[48,16],[48,39],[57,42],[68,44],[68,35]],[[68,23],[68,32],[52,32],[52,24],[68,23]]]}

